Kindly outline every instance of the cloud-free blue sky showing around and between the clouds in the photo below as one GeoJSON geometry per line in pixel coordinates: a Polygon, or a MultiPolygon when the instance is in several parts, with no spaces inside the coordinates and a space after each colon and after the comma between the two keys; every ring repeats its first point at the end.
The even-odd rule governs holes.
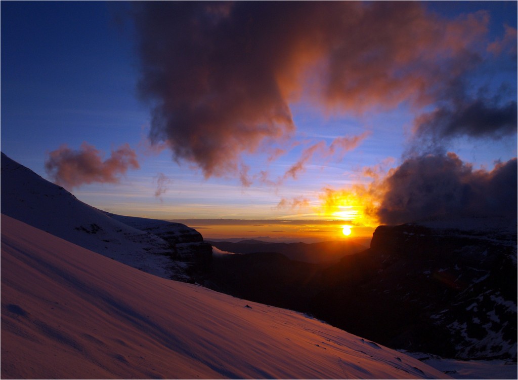
{"type": "MultiPolygon", "coordinates": [[[[516,28],[516,2],[420,5],[444,20],[487,10],[486,45],[503,38],[504,25],[516,28]]],[[[132,5],[118,2],[1,4],[2,151],[52,180],[45,161],[62,144],[77,151],[87,142],[104,153],[103,159],[129,144],[140,168],[120,174],[118,183],[65,186],[95,207],[163,219],[319,218],[324,187],[368,183],[370,179],[362,174],[366,167],[382,165],[385,171],[398,167],[409,146],[415,144],[416,114],[437,106],[429,103],[417,109],[404,101],[395,107],[373,106],[362,114],[347,107],[331,112],[304,92],[289,102],[296,126],[293,134],[271,144],[283,148],[283,155],[269,161],[269,153],[261,149],[238,152],[241,164],[250,168],[248,186],[232,170],[207,175],[199,160],[177,156],[175,161],[170,148],[160,153],[146,148],[152,97],[142,101],[138,96],[137,83],[142,77],[139,41],[144,37],[133,28],[128,9],[132,5]],[[279,181],[301,160],[305,149],[322,141],[329,147],[337,138],[360,135],[363,138],[353,148],[333,155],[313,154],[296,178],[279,181]],[[268,181],[258,180],[261,171],[268,171],[268,181]],[[160,175],[165,179],[165,192],[156,196],[160,175]],[[279,207],[282,199],[292,206],[294,199],[304,202],[279,207]]],[[[484,88],[487,98],[505,93],[506,100],[516,100],[515,53],[483,60],[470,75],[469,91],[484,88]],[[506,89],[501,90],[502,86],[506,89]]],[[[491,170],[495,161],[516,156],[516,134],[499,139],[459,135],[443,147],[474,168],[491,170]]]]}

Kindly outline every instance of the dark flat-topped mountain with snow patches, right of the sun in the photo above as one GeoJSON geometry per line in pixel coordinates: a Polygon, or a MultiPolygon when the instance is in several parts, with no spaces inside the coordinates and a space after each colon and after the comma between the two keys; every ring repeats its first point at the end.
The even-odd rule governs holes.
{"type": "Polygon", "coordinates": [[[516,358],[515,228],[380,226],[324,272],[315,316],[391,347],[516,358]]]}

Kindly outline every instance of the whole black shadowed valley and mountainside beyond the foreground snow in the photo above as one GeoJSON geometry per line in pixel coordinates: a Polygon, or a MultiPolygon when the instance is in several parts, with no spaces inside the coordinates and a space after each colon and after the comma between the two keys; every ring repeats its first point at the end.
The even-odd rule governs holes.
{"type": "Polygon", "coordinates": [[[206,286],[310,313],[392,348],[516,360],[515,224],[464,222],[380,226],[370,249],[337,264],[217,256],[206,286]]]}

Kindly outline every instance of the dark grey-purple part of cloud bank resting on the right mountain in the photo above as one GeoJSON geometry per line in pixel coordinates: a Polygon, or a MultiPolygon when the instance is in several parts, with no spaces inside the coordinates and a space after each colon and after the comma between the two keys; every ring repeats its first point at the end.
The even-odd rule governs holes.
{"type": "Polygon", "coordinates": [[[377,209],[386,224],[458,216],[505,216],[516,220],[516,158],[492,171],[473,170],[454,153],[406,159],[376,185],[377,209]]]}

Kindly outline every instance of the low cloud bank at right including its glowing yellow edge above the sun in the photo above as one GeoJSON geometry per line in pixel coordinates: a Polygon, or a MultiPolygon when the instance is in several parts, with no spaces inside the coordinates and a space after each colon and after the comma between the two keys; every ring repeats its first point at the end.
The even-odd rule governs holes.
{"type": "Polygon", "coordinates": [[[324,188],[320,198],[326,213],[368,225],[479,216],[516,220],[517,168],[516,158],[487,171],[474,170],[454,153],[413,156],[367,185],[324,188]]]}

